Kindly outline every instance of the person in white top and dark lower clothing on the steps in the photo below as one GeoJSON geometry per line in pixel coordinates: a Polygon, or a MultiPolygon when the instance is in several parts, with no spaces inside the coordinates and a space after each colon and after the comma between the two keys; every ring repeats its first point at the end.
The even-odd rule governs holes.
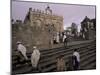
{"type": "Polygon", "coordinates": [[[80,64],[80,54],[77,51],[77,49],[75,49],[73,53],[73,69],[79,70],[79,64],[80,64]]]}

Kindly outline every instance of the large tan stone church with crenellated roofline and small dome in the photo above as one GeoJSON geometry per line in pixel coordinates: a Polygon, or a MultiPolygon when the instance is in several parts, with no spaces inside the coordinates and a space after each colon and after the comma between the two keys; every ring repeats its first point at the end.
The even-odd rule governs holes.
{"type": "Polygon", "coordinates": [[[63,31],[63,16],[54,15],[49,6],[44,11],[29,8],[24,22],[17,20],[12,24],[12,47],[16,48],[17,41],[29,49],[34,45],[52,47],[53,38],[63,31]]]}

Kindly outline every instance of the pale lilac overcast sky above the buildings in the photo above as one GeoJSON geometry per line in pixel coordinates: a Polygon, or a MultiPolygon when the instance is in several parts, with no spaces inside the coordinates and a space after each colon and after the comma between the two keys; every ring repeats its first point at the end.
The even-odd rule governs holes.
{"type": "Polygon", "coordinates": [[[80,30],[80,22],[88,16],[90,19],[95,18],[95,6],[90,5],[72,5],[57,3],[37,3],[28,1],[12,1],[11,16],[14,20],[24,21],[30,7],[32,9],[41,9],[45,11],[47,5],[52,9],[53,14],[63,16],[64,29],[70,27],[72,22],[76,23],[80,30]]]}

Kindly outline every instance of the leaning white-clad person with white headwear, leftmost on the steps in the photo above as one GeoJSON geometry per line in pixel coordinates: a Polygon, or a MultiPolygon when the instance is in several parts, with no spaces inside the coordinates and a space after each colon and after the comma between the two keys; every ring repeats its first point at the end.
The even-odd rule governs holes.
{"type": "Polygon", "coordinates": [[[19,41],[17,42],[17,50],[20,53],[20,58],[24,57],[24,62],[27,64],[26,61],[28,60],[28,57],[26,56],[26,47],[19,41]]]}

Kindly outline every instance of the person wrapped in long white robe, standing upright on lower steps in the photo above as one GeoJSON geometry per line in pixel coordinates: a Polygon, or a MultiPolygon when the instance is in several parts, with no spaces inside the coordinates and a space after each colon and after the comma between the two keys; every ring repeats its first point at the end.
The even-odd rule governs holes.
{"type": "Polygon", "coordinates": [[[31,63],[32,63],[32,70],[40,69],[38,66],[38,62],[40,59],[40,51],[36,48],[36,46],[33,47],[33,53],[31,55],[31,63]]]}

